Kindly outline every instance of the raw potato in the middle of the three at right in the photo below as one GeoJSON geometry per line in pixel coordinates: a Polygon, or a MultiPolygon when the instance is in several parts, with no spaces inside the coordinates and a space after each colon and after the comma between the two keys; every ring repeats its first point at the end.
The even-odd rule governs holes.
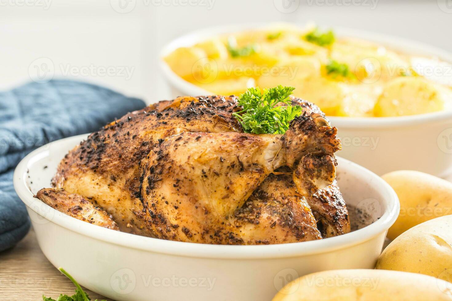
{"type": "Polygon", "coordinates": [[[452,215],[434,218],[392,241],[381,253],[377,269],[421,273],[452,282],[451,244],[452,215]]]}

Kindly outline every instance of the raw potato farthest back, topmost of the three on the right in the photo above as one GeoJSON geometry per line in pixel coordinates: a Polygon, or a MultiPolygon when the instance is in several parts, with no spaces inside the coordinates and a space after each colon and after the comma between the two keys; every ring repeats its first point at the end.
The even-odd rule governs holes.
{"type": "Polygon", "coordinates": [[[389,228],[389,239],[395,239],[421,222],[452,214],[451,182],[419,171],[393,171],[382,178],[400,200],[400,214],[389,228]]]}

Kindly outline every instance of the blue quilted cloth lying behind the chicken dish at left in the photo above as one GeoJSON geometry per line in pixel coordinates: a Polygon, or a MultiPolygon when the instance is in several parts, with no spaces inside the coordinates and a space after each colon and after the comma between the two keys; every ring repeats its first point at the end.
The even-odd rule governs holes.
{"type": "Polygon", "coordinates": [[[0,251],[14,246],[30,228],[25,205],[13,187],[19,161],[48,142],[93,132],[144,106],[140,99],[69,80],[0,92],[0,251]]]}

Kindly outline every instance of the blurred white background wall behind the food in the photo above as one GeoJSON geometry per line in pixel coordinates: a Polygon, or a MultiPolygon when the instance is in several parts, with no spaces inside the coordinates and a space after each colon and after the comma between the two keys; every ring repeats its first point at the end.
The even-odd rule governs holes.
{"type": "Polygon", "coordinates": [[[55,78],[71,69],[66,77],[154,102],[169,97],[157,65],[165,43],[209,26],[272,21],[359,28],[452,51],[452,0],[0,0],[0,89],[30,80],[44,57],[38,62],[53,65],[55,78]],[[110,75],[99,74],[107,67],[110,75]]]}

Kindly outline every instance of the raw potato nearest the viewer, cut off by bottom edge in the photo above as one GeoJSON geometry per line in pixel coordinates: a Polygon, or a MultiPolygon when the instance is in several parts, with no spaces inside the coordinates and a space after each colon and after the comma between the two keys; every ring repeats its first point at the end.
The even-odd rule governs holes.
{"type": "Polygon", "coordinates": [[[415,273],[334,270],[288,283],[273,301],[450,301],[450,286],[449,282],[415,273]]]}

